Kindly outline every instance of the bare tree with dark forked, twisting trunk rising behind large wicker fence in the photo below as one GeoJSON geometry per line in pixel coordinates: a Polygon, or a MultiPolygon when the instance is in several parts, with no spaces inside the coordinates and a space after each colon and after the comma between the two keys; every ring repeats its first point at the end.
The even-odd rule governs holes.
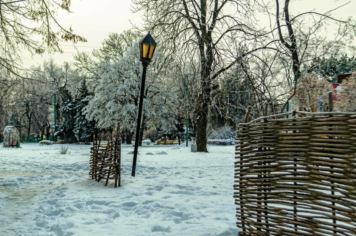
{"type": "Polygon", "coordinates": [[[332,53],[330,48],[355,36],[356,23],[350,17],[346,20],[333,17],[333,12],[346,4],[325,13],[312,9],[293,15],[290,0],[284,0],[283,7],[279,5],[279,2],[280,0],[276,0],[276,14],[270,13],[270,16],[276,18],[276,24],[274,26],[271,24],[271,32],[273,39],[275,37],[279,39],[276,49],[281,53],[286,70],[292,69],[287,78],[289,78],[289,85],[294,84],[294,88],[287,99],[288,102],[296,92],[295,86],[302,75],[303,66],[308,65],[315,58],[330,55],[332,53]],[[281,9],[283,9],[282,12],[280,12],[281,9]],[[328,32],[326,26],[331,23],[337,26],[335,32],[328,32]]]}

